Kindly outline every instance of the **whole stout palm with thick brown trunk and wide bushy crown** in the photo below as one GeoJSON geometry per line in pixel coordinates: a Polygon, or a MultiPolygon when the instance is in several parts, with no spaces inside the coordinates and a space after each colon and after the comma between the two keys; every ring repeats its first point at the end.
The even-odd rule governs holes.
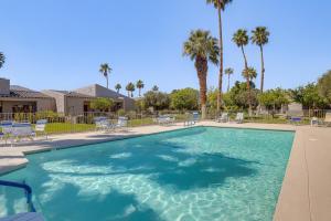
{"type": "Polygon", "coordinates": [[[184,55],[194,61],[199,84],[200,84],[200,104],[202,118],[206,117],[206,76],[209,71],[209,61],[218,64],[220,48],[217,39],[213,38],[209,31],[192,31],[189,40],[184,42],[184,55]]]}

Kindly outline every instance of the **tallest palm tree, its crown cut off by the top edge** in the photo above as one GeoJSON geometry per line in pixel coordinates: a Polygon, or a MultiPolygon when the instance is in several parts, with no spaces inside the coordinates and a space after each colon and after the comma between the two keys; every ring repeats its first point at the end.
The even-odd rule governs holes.
{"type": "Polygon", "coordinates": [[[218,34],[220,34],[220,74],[218,74],[218,93],[217,93],[217,113],[220,114],[222,104],[222,85],[223,85],[223,30],[222,30],[222,11],[232,0],[206,0],[207,3],[214,4],[218,12],[218,34]]]}

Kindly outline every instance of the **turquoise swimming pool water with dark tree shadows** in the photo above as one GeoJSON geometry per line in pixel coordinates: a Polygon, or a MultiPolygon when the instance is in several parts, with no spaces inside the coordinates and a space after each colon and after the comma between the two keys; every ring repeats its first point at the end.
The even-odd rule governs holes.
{"type": "MultiPolygon", "coordinates": [[[[273,220],[293,133],[195,127],[29,156],[46,220],[273,220]]],[[[0,217],[24,197],[0,188],[0,217]]]]}

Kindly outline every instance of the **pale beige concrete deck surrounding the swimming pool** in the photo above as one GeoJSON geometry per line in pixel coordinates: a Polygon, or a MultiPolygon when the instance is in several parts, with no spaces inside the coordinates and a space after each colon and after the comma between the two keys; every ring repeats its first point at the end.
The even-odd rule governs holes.
{"type": "MultiPolygon", "coordinates": [[[[266,124],[218,124],[202,122],[197,126],[296,130],[296,137],[279,194],[274,220],[331,220],[331,128],[266,124]]],[[[50,136],[49,140],[3,147],[0,143],[0,175],[24,167],[26,154],[121,139],[184,128],[145,126],[117,133],[84,133],[50,136]]]]}

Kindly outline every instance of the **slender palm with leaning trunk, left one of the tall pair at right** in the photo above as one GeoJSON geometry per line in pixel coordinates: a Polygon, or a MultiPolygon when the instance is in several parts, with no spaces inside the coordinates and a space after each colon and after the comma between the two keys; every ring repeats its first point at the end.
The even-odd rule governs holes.
{"type": "MultiPolygon", "coordinates": [[[[247,34],[247,31],[244,29],[239,29],[237,30],[233,38],[232,41],[242,50],[243,56],[244,56],[244,62],[245,62],[245,67],[244,67],[244,72],[246,72],[245,70],[248,70],[248,62],[247,62],[247,56],[245,54],[245,50],[244,46],[246,46],[249,42],[249,36],[247,34]]],[[[246,78],[246,77],[245,77],[246,78]]],[[[247,90],[248,92],[250,92],[250,82],[249,78],[246,78],[246,84],[247,84],[247,90]]],[[[248,103],[249,103],[249,115],[252,115],[252,96],[249,93],[248,96],[248,103]]]]}

